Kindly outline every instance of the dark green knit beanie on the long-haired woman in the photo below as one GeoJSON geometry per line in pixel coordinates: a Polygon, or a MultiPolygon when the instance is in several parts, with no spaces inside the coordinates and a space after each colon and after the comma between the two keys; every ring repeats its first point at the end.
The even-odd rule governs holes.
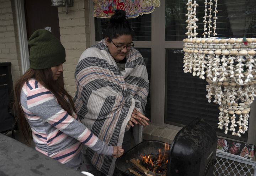
{"type": "Polygon", "coordinates": [[[28,40],[30,68],[35,70],[58,66],[66,61],[61,42],[48,30],[36,30],[28,40]]]}

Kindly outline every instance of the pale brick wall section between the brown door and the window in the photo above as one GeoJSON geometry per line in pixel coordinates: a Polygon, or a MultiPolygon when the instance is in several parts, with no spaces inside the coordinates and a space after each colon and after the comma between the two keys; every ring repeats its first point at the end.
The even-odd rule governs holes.
{"type": "Polygon", "coordinates": [[[76,92],[75,67],[81,53],[90,47],[89,2],[74,0],[74,6],[58,8],[60,41],[66,49],[66,62],[63,64],[64,83],[71,96],[76,92]]]}

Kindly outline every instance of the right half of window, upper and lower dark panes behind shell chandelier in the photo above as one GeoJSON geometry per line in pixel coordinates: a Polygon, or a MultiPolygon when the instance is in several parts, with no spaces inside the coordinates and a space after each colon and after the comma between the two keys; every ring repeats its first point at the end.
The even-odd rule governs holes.
{"type": "MultiPolygon", "coordinates": [[[[252,37],[256,34],[256,5],[253,0],[218,1],[217,34],[218,37],[252,37]],[[220,4],[222,3],[222,4],[220,4]]],[[[197,32],[203,37],[204,0],[197,4],[197,32]]],[[[184,1],[166,0],[165,40],[178,41],[187,38],[186,16],[187,6],[184,1]]],[[[219,110],[218,105],[208,103],[206,98],[205,80],[190,73],[183,73],[183,56],[181,49],[166,49],[166,118],[165,123],[185,126],[197,117],[203,118],[212,125],[218,135],[246,141],[248,132],[241,137],[223,134],[217,127],[219,110]]]]}

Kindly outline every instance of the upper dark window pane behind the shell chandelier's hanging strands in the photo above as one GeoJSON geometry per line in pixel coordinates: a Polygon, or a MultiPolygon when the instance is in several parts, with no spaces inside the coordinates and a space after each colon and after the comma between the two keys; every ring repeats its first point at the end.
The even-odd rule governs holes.
{"type": "MultiPolygon", "coordinates": [[[[165,40],[181,41],[187,38],[187,5],[186,0],[165,1],[165,40]]],[[[197,0],[197,22],[199,35],[203,37],[204,0],[197,0]]],[[[214,1],[213,1],[214,2],[214,1]]],[[[215,2],[214,2],[215,3],[215,2]]],[[[215,8],[214,6],[212,8],[215,8]]],[[[255,0],[222,0],[218,1],[217,37],[255,37],[256,33],[255,0]]]]}

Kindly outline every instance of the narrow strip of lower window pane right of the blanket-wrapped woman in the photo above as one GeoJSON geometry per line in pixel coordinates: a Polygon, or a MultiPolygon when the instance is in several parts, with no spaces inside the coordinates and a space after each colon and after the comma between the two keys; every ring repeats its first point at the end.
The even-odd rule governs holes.
{"type": "MultiPolygon", "coordinates": [[[[136,46],[135,46],[136,47],[136,46]]],[[[145,64],[146,64],[146,69],[148,71],[148,79],[149,79],[149,87],[150,87],[150,78],[151,78],[151,48],[135,48],[138,50],[142,57],[144,58],[145,64]]],[[[151,99],[150,99],[150,90],[149,90],[149,95],[147,98],[147,104],[146,104],[146,117],[151,119],[151,99]]]]}

